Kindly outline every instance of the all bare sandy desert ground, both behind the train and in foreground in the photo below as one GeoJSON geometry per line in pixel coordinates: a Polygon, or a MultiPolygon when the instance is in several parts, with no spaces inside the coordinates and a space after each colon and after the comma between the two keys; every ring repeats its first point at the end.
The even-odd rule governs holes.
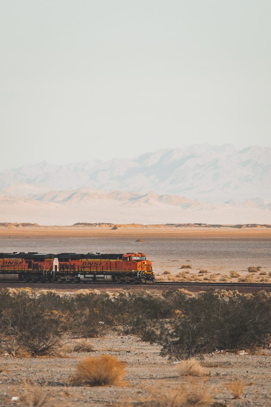
{"type": "MultiPolygon", "coordinates": [[[[152,261],[158,280],[271,282],[269,225],[42,227],[9,224],[0,226],[0,247],[1,252],[143,252],[152,261]],[[249,273],[250,266],[258,269],[249,273]],[[233,271],[235,274],[231,275],[233,271]]],[[[84,284],[76,291],[69,284],[69,289],[56,293],[84,295],[92,290],[95,291],[95,287],[91,284],[84,284]]],[[[123,290],[132,292],[132,285],[121,286],[121,289],[106,287],[101,292],[107,291],[112,297],[123,290]]],[[[11,292],[16,295],[16,289],[11,292]]],[[[39,295],[37,289],[28,292],[30,296],[39,295]]],[[[148,293],[148,287],[142,287],[142,293],[148,293]]],[[[200,294],[191,294],[197,295],[200,294]]],[[[228,295],[232,292],[225,294],[228,295]]],[[[208,352],[200,361],[199,376],[191,376],[187,372],[179,375],[179,363],[161,357],[161,346],[143,341],[137,333],[124,332],[121,327],[108,327],[102,335],[87,339],[85,349],[76,349],[78,341],[76,335],[64,335],[59,340],[61,347],[45,356],[30,357],[27,352],[12,356],[3,350],[0,406],[271,406],[270,349],[208,352]],[[89,346],[92,349],[87,349],[89,346]],[[126,363],[124,382],[109,386],[72,386],[70,378],[78,362],[85,357],[102,355],[113,355],[126,363]],[[231,383],[243,386],[237,398],[230,390],[234,387],[231,383]],[[172,402],[170,394],[174,391],[178,396],[172,402]],[[190,398],[182,401],[186,392],[190,398]]]]}

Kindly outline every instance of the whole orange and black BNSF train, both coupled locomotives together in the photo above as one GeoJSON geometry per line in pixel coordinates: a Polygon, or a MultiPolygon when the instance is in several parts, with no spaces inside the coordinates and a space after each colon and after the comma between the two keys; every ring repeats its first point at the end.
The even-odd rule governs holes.
{"type": "Polygon", "coordinates": [[[153,283],[152,263],[143,253],[0,253],[0,280],[25,282],[153,283]]]}

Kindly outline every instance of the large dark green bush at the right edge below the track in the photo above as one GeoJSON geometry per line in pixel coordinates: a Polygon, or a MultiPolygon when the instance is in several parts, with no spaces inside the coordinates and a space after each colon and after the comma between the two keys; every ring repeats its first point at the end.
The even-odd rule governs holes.
{"type": "Polygon", "coordinates": [[[189,359],[215,349],[269,346],[271,296],[202,293],[186,298],[175,319],[160,322],[156,341],[161,355],[189,359]]]}

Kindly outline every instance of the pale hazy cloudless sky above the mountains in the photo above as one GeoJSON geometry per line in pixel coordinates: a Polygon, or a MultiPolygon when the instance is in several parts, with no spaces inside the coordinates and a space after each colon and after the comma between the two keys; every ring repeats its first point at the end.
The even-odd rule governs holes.
{"type": "Polygon", "coordinates": [[[0,170],[270,145],[270,0],[0,0],[0,170]]]}

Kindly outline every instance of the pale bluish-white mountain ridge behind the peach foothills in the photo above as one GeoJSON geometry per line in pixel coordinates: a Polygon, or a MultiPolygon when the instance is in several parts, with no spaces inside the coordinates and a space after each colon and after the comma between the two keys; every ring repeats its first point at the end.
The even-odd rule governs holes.
{"type": "Polygon", "coordinates": [[[67,165],[41,162],[0,173],[2,196],[35,194],[35,188],[38,194],[86,187],[136,191],[141,195],[154,191],[216,203],[255,197],[271,201],[271,148],[251,146],[238,150],[232,144],[193,144],[134,158],[67,165]]]}

